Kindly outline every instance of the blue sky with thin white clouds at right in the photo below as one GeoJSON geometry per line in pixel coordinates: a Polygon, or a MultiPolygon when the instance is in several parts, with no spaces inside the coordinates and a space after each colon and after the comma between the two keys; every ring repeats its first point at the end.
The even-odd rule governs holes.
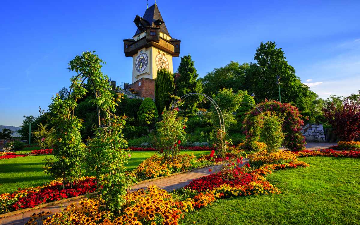
{"type": "MultiPolygon", "coordinates": [[[[360,1],[157,0],[171,37],[181,40],[200,77],[230,61],[255,62],[260,42],[275,41],[303,83],[321,98],[360,89],[360,1]]],[[[95,50],[112,80],[131,83],[123,39],[136,31],[146,0],[3,1],[0,9],[0,125],[39,116],[70,85],[67,63],[95,50]]],[[[154,0],[149,1],[149,6],[154,0]]],[[[180,57],[173,58],[174,70],[180,57]]]]}

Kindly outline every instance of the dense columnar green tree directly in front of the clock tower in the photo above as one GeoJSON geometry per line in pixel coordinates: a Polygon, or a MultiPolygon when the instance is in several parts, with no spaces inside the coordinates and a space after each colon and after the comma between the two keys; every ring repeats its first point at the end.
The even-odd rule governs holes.
{"type": "Polygon", "coordinates": [[[161,113],[170,109],[171,98],[170,95],[174,93],[174,77],[167,69],[160,69],[157,71],[155,78],[155,104],[157,112],[161,113]]]}

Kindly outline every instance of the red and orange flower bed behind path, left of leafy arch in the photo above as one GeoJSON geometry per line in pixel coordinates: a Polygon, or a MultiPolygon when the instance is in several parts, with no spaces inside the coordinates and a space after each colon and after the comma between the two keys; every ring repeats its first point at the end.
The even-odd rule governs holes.
{"type": "Polygon", "coordinates": [[[43,203],[54,202],[64,198],[71,198],[95,191],[95,177],[82,177],[73,188],[60,190],[61,181],[51,181],[45,186],[36,188],[25,188],[15,191],[12,194],[0,195],[0,213],[11,212],[22,208],[33,208],[43,203]]]}

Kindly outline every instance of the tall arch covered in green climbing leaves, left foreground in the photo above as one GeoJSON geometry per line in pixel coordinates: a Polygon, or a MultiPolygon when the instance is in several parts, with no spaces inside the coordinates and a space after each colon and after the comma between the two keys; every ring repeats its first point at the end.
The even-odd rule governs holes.
{"type": "MultiPolygon", "coordinates": [[[[135,178],[124,166],[130,155],[123,151],[124,148],[127,148],[127,142],[121,134],[125,120],[115,114],[115,105],[117,105],[117,101],[120,101],[120,96],[115,99],[110,93],[109,78],[100,71],[101,63],[105,62],[94,53],[95,51],[86,51],[81,55],[76,55],[75,59],[69,62],[68,69],[77,73],[70,79],[72,85],[69,96],[64,101],[59,99],[58,95],[53,98],[50,109],[56,114],[54,120],[58,124],[58,128],[54,132],[57,138],[54,156],[59,161],[64,158],[67,161],[61,165],[49,162],[48,170],[53,176],[73,177],[74,174],[70,173],[74,171],[73,168],[85,162],[87,170],[93,171],[96,176],[97,191],[100,194],[102,206],[106,210],[115,211],[119,210],[125,202],[123,196],[126,194],[128,186],[135,182],[135,178]],[[95,98],[91,102],[98,107],[98,126],[94,127],[96,136],[87,139],[87,146],[80,139],[79,130],[82,121],[74,116],[77,99],[86,94],[86,89],[82,87],[86,78],[91,81],[95,93],[95,98]],[[72,89],[73,93],[71,94],[72,89]],[[76,156],[80,153],[82,157],[72,159],[74,154],[76,156]],[[73,162],[73,167],[68,168],[68,162],[73,162]],[[76,162],[78,163],[75,164],[76,162]],[[58,169],[61,169],[60,166],[64,167],[66,173],[59,174],[57,172],[58,169]]],[[[73,179],[68,180],[72,181],[73,179]]]]}

